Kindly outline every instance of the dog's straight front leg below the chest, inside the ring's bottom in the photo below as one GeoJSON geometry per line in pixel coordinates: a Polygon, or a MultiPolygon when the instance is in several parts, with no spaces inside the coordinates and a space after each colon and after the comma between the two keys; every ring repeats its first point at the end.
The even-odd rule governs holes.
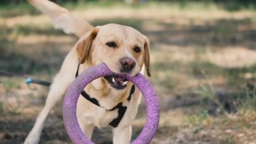
{"type": "Polygon", "coordinates": [[[113,144],[129,144],[131,141],[131,125],[113,128],[113,144]]]}

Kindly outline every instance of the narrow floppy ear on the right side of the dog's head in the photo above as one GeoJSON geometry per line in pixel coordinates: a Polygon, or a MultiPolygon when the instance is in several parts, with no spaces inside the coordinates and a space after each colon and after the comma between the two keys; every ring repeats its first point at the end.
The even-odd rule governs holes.
{"type": "Polygon", "coordinates": [[[146,37],[145,40],[145,44],[144,44],[144,63],[147,69],[147,75],[150,77],[151,73],[150,73],[150,69],[149,69],[149,65],[150,65],[150,55],[149,55],[149,39],[146,37]]]}

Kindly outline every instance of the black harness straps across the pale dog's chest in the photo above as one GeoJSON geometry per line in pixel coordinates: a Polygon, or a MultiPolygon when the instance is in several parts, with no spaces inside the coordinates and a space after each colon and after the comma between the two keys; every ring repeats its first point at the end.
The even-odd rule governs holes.
{"type": "MultiPolygon", "coordinates": [[[[78,71],[79,71],[79,67],[80,67],[80,61],[78,61],[78,66],[77,66],[77,72],[75,74],[75,77],[78,76],[78,71]]],[[[127,101],[130,102],[131,100],[131,96],[133,95],[135,91],[135,86],[133,85],[131,87],[131,91],[130,94],[128,96],[128,98],[126,99],[127,101]]],[[[84,90],[81,92],[81,95],[87,99],[88,101],[90,101],[91,103],[95,104],[98,107],[101,107],[99,104],[99,101],[95,98],[91,98],[84,90]]],[[[101,107],[104,108],[104,107],[101,107]]],[[[105,108],[104,108],[105,109],[105,108]]],[[[127,107],[123,106],[123,102],[118,103],[115,107],[113,107],[112,109],[106,109],[106,111],[113,111],[115,109],[118,109],[118,116],[117,118],[115,118],[114,120],[112,120],[109,125],[111,125],[112,127],[116,128],[118,126],[118,124],[120,123],[120,121],[122,120],[123,116],[125,115],[126,109],[127,107]]]]}

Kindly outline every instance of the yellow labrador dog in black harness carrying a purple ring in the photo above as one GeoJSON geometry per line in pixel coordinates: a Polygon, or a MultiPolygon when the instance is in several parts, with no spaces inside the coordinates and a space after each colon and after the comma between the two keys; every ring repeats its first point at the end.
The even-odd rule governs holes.
{"type": "MultiPolygon", "coordinates": [[[[24,142],[37,144],[50,110],[84,70],[104,62],[113,72],[130,76],[143,73],[145,66],[150,76],[149,40],[132,27],[119,24],[93,27],[51,1],[28,1],[48,15],[55,28],[80,38],[64,59],[51,84],[45,106],[24,142]]],[[[122,77],[100,77],[88,84],[77,102],[77,118],[83,133],[91,139],[94,126],[110,125],[114,144],[130,143],[131,123],[137,113],[140,94],[131,82],[122,77]]]]}

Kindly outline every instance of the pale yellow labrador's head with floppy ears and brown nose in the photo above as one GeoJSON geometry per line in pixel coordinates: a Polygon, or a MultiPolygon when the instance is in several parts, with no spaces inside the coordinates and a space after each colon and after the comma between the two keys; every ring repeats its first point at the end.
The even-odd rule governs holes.
{"type": "MultiPolygon", "coordinates": [[[[104,62],[115,73],[134,76],[145,64],[149,70],[149,40],[136,29],[119,24],[95,27],[83,35],[76,46],[80,64],[94,66],[104,62]]],[[[104,80],[109,87],[124,89],[128,80],[107,76],[104,80]]]]}

